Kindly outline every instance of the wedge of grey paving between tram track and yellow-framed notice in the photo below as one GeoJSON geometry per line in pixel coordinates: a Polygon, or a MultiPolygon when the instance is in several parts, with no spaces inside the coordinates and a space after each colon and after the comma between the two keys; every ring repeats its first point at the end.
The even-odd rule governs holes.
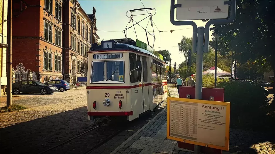
{"type": "MultiPolygon", "coordinates": [[[[166,138],[167,106],[118,146],[111,154],[192,154],[192,150],[178,148],[178,142],[166,138]],[[155,135],[154,135],[155,134],[155,135]]],[[[224,154],[234,154],[224,151],[224,154]]]]}

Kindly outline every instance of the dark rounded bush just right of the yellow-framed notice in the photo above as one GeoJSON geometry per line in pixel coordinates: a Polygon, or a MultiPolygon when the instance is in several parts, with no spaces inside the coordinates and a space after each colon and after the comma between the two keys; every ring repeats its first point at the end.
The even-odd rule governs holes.
{"type": "Polygon", "coordinates": [[[262,127],[266,120],[267,102],[264,89],[248,82],[220,82],[218,88],[224,89],[224,101],[230,102],[230,127],[262,127]],[[264,123],[263,123],[264,122],[264,123]]]}

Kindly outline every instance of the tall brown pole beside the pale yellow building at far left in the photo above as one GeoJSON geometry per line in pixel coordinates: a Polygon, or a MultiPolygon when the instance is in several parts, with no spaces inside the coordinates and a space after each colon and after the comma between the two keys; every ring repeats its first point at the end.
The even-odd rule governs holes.
{"type": "Polygon", "coordinates": [[[12,0],[8,1],[8,52],[7,52],[7,106],[11,105],[11,43],[12,43],[12,0]]]}

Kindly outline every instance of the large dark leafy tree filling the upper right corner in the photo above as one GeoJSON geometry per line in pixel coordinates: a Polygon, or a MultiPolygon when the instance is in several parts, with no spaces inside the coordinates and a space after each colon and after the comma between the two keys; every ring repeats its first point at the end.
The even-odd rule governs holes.
{"type": "MultiPolygon", "coordinates": [[[[235,20],[225,25],[215,24],[211,28],[220,34],[218,51],[225,56],[235,51],[232,58],[239,64],[248,62],[272,68],[275,75],[274,5],[274,0],[236,1],[235,20]]],[[[215,46],[212,41],[209,44],[215,46]]]]}

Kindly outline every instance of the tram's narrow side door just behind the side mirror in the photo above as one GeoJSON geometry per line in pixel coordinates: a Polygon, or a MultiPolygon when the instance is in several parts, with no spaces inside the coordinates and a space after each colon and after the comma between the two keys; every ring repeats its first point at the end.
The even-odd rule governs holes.
{"type": "Polygon", "coordinates": [[[137,72],[138,82],[142,84],[142,101],[143,112],[149,110],[149,91],[148,91],[148,77],[147,77],[147,61],[146,57],[137,55],[137,61],[141,61],[142,70],[137,72]]]}

